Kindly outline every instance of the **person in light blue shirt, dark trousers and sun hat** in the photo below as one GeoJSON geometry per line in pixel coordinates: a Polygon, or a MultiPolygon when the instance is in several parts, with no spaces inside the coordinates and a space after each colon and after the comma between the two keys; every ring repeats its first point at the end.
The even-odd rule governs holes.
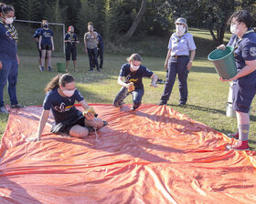
{"type": "Polygon", "coordinates": [[[192,67],[197,48],[193,36],[187,30],[187,20],[183,17],[178,18],[176,33],[170,37],[169,50],[165,59],[166,80],[164,93],[158,104],[160,106],[167,104],[176,81],[176,74],[180,93],[179,106],[187,103],[187,75],[192,67]]]}

